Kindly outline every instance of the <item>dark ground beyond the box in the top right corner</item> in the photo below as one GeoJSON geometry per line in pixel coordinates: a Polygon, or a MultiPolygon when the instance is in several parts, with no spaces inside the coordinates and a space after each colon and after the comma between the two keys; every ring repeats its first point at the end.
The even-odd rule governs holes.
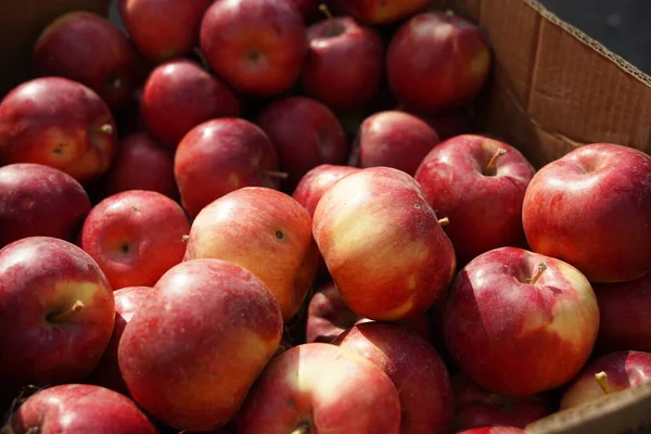
{"type": "Polygon", "coordinates": [[[651,74],[651,0],[539,1],[561,20],[651,74]]]}

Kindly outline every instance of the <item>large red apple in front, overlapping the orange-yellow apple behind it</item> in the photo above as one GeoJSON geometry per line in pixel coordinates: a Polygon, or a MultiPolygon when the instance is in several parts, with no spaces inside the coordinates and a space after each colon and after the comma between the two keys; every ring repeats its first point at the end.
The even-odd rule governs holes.
{"type": "Polygon", "coordinates": [[[273,295],[246,269],[188,260],[161,278],[125,327],[117,356],[133,399],[188,431],[228,422],[282,335],[273,295]]]}

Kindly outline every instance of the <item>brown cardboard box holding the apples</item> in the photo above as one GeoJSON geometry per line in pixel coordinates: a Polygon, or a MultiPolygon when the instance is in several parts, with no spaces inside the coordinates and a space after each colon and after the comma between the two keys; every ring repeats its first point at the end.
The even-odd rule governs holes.
{"type": "MultiPolygon", "coordinates": [[[[71,10],[106,14],[108,3],[3,0],[0,37],[12,43],[0,46],[0,95],[28,77],[30,49],[44,25],[71,10]]],[[[476,119],[486,132],[520,148],[536,167],[595,142],[651,154],[650,76],[534,0],[437,0],[435,5],[485,29],[494,67],[474,107],[476,119]]],[[[651,384],[558,412],[526,432],[651,433],[651,384]]]]}

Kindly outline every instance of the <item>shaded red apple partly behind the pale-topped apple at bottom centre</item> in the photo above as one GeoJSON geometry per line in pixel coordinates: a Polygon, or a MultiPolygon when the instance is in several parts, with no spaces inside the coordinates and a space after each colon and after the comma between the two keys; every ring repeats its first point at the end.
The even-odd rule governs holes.
{"type": "Polygon", "coordinates": [[[432,345],[396,326],[378,322],[355,326],[333,344],[372,361],[388,375],[399,391],[401,433],[450,432],[452,386],[448,370],[432,345]]]}

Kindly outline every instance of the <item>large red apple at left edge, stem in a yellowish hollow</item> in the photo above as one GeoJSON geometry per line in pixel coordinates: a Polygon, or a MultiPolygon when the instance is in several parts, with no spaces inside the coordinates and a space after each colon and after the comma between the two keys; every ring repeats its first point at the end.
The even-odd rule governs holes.
{"type": "Polygon", "coordinates": [[[29,237],[0,251],[0,342],[11,354],[0,358],[0,379],[10,385],[84,380],[111,339],[114,316],[108,281],[76,245],[29,237]]]}

